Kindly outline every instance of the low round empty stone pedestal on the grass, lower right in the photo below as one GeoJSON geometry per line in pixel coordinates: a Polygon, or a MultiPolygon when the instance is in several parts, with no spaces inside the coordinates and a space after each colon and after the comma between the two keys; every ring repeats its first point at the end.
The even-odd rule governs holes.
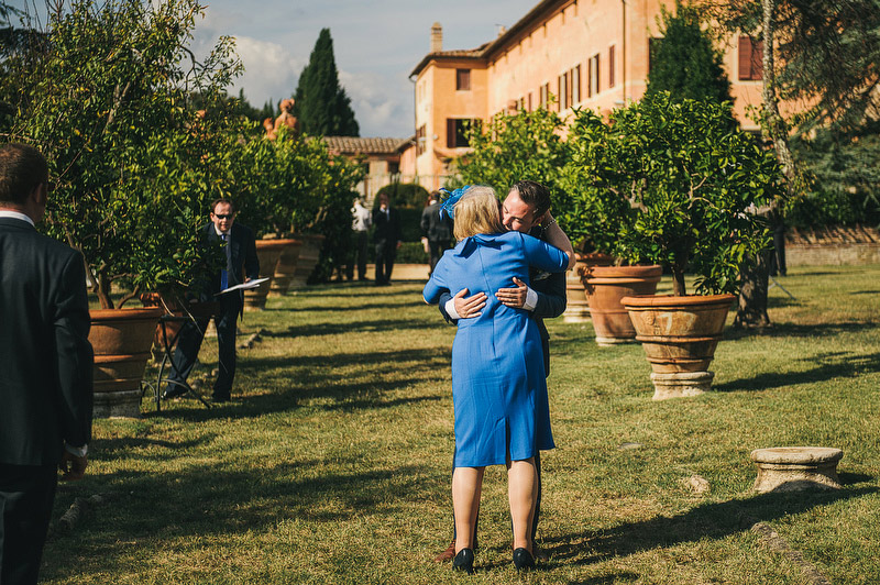
{"type": "Polygon", "coordinates": [[[756,449],[751,460],[758,466],[755,490],[798,492],[801,489],[839,489],[837,462],[839,449],[825,446],[776,446],[756,449]]]}

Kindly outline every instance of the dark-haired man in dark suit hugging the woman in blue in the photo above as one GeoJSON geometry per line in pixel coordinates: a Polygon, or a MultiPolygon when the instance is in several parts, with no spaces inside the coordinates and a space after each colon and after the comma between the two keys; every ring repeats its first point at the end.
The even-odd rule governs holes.
{"type": "MultiPolygon", "coordinates": [[[[502,223],[510,231],[528,233],[544,242],[574,255],[568,235],[559,228],[557,220],[550,214],[550,191],[543,185],[532,180],[520,180],[510,188],[502,205],[502,223]]],[[[529,274],[531,287],[518,278],[513,279],[513,287],[501,288],[495,296],[508,307],[525,309],[531,312],[538,325],[543,350],[544,375],[550,375],[550,334],[543,324],[544,319],[552,319],[565,312],[568,305],[565,273],[544,273],[531,269],[529,274]]],[[[486,305],[486,295],[479,292],[465,297],[468,289],[460,290],[454,297],[443,295],[440,298],[440,312],[448,322],[477,317],[486,305]]],[[[538,531],[538,519],[541,510],[541,459],[535,452],[535,466],[538,471],[538,500],[531,522],[532,553],[536,559],[546,560],[547,555],[538,549],[535,537],[538,531]]],[[[473,542],[476,542],[474,527],[473,542]]],[[[455,555],[455,537],[453,523],[452,543],[435,559],[441,563],[451,561],[455,555]]]]}

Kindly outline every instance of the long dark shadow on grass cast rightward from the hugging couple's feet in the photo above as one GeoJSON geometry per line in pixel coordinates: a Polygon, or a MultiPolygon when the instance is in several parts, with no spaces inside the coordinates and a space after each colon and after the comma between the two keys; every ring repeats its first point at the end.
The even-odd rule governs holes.
{"type": "Polygon", "coordinates": [[[748,530],[758,521],[772,521],[817,506],[877,492],[877,487],[870,486],[834,492],[761,494],[748,499],[704,504],[678,516],[659,516],[650,520],[627,522],[601,532],[587,531],[544,538],[543,543],[554,561],[584,565],[658,547],[674,547],[704,538],[726,538],[748,530]]]}

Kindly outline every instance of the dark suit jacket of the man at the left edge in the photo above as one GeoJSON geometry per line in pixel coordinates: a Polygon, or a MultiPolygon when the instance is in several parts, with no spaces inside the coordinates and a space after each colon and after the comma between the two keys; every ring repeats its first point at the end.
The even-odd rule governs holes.
{"type": "Polygon", "coordinates": [[[91,439],[89,327],[82,256],[0,218],[0,463],[54,466],[91,439]]]}

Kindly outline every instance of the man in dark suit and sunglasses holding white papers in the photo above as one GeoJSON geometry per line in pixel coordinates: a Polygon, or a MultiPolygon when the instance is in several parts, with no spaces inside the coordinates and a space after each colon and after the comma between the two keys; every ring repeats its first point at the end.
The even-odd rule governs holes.
{"type": "MultiPolygon", "coordinates": [[[[235,377],[235,322],[239,319],[244,296],[242,290],[218,295],[221,290],[260,277],[260,261],[256,257],[256,242],[250,228],[235,222],[232,201],[218,199],[211,203],[211,222],[201,228],[205,249],[211,250],[222,241],[227,265],[211,276],[201,290],[199,300],[217,301],[213,316],[217,327],[217,345],[220,354],[219,375],[213,384],[215,402],[229,401],[232,380],[235,377]]],[[[177,350],[174,352],[174,367],[163,398],[173,398],[187,391],[186,378],[196,364],[209,318],[187,321],[180,329],[177,350]]]]}

